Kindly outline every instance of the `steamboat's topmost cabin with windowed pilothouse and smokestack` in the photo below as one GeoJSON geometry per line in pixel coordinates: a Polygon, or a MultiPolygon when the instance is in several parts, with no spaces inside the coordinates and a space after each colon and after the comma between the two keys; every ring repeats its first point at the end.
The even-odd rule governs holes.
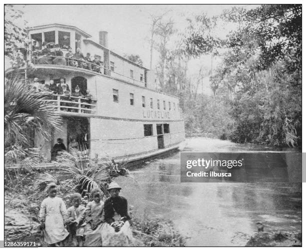
{"type": "MultiPolygon", "coordinates": [[[[68,53],[68,47],[71,47],[72,53],[75,53],[76,49],[79,48],[84,57],[87,53],[90,54],[91,61],[93,56],[98,58],[103,66],[102,73],[125,81],[132,81],[133,84],[154,88],[152,86],[153,73],[148,68],[120,56],[107,47],[106,31],[99,32],[99,43],[88,39],[90,35],[75,26],[58,23],[31,27],[28,29],[28,34],[32,39],[32,54],[35,54],[35,50],[38,53],[41,52],[44,43],[48,44],[51,53],[54,52],[54,45],[58,44],[63,57],[68,53]]],[[[44,62],[43,64],[63,65],[63,63],[53,63],[52,59],[54,58],[49,61],[46,60],[47,63],[44,62]]],[[[58,61],[60,62],[60,60],[58,61]]],[[[78,62],[80,61],[78,60],[78,62]]],[[[35,63],[42,62],[38,60],[35,63]]],[[[71,65],[70,62],[65,64],[71,65]]]]}

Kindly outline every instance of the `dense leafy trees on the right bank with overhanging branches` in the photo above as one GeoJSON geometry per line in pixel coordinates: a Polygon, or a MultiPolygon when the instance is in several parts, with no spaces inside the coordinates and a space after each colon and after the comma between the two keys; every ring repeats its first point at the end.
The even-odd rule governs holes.
{"type": "MultiPolygon", "coordinates": [[[[234,7],[213,18],[195,16],[189,19],[184,43],[184,54],[192,57],[222,51],[222,62],[210,76],[210,84],[215,97],[230,100],[221,110],[228,112],[233,123],[219,128],[228,132],[228,139],[301,145],[300,4],[268,4],[250,10],[234,7]],[[226,37],[213,33],[224,22],[233,26],[226,37]]],[[[204,100],[201,105],[206,105],[204,100]]],[[[187,122],[188,132],[201,127],[201,105],[194,106],[193,112],[186,110],[187,121],[195,117],[194,125],[187,122]]],[[[207,109],[213,111],[209,105],[206,113],[207,109]]],[[[221,120],[224,114],[216,116],[221,120]]]]}

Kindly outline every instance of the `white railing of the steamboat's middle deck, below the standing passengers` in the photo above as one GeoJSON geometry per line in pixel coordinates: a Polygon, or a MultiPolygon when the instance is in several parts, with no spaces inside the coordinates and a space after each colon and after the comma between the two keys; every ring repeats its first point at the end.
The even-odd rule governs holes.
{"type": "Polygon", "coordinates": [[[58,112],[71,112],[71,113],[96,113],[96,100],[84,97],[47,94],[43,100],[52,102],[58,112]]]}

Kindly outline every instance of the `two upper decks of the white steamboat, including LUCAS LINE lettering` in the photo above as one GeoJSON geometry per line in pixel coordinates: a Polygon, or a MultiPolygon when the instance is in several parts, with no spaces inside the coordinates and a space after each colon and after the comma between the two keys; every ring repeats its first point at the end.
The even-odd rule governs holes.
{"type": "Polygon", "coordinates": [[[62,24],[36,26],[29,29],[29,35],[36,42],[27,54],[32,66],[27,79],[33,81],[36,77],[42,84],[52,79],[58,84],[64,78],[69,97],[54,92],[47,98],[62,115],[145,121],[181,119],[178,98],[155,91],[150,70],[110,51],[105,32],[100,43],[89,40],[86,32],[62,24]],[[44,42],[58,44],[59,49],[51,45],[42,51],[44,42]],[[83,55],[94,54],[98,60],[77,57],[75,51],[67,55],[67,46],[79,47],[83,55]],[[82,94],[90,90],[90,102],[73,96],[76,86],[82,94]]]}

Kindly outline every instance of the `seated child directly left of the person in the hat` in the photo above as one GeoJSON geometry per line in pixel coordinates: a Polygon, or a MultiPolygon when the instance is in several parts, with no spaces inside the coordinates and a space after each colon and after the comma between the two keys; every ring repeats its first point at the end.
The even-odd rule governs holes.
{"type": "Polygon", "coordinates": [[[104,221],[102,191],[98,188],[91,190],[91,198],[85,209],[85,245],[102,246],[101,227],[104,221]]]}

